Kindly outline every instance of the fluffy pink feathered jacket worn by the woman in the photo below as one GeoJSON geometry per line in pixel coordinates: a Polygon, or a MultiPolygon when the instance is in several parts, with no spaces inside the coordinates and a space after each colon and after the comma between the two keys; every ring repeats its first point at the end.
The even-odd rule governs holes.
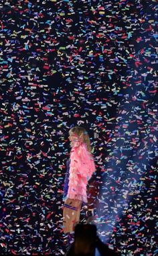
{"type": "Polygon", "coordinates": [[[86,186],[95,171],[94,159],[85,143],[75,142],[70,152],[67,198],[87,202],[86,186]]]}

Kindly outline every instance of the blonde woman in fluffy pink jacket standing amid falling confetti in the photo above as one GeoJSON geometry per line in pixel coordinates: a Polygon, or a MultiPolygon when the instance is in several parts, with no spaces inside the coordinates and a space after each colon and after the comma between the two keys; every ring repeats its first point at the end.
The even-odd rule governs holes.
{"type": "Polygon", "coordinates": [[[95,171],[94,159],[91,154],[88,132],[80,126],[70,129],[70,159],[68,159],[64,181],[64,233],[74,232],[80,220],[80,209],[86,204],[86,187],[88,180],[95,171]]]}

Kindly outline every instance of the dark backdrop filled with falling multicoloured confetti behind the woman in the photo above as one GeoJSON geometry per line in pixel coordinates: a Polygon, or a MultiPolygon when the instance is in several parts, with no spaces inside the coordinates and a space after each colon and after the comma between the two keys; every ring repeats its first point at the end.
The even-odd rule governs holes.
{"type": "Polygon", "coordinates": [[[78,125],[96,163],[100,238],[156,255],[156,13],[156,1],[1,1],[1,254],[64,254],[78,125]]]}

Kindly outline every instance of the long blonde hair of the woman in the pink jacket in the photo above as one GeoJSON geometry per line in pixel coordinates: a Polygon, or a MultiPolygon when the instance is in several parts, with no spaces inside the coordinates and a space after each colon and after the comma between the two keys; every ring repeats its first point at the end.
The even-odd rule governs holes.
{"type": "Polygon", "coordinates": [[[90,137],[88,136],[86,129],[81,126],[74,126],[69,131],[69,134],[71,133],[77,134],[78,136],[82,135],[83,142],[86,144],[88,151],[91,153],[92,148],[90,146],[90,137]]]}

